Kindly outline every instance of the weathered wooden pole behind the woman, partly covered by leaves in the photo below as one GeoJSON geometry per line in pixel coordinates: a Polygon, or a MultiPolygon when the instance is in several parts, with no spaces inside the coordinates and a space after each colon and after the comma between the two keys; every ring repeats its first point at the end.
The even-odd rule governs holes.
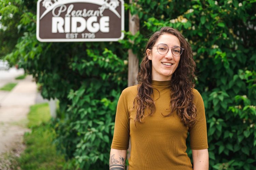
{"type": "MultiPolygon", "coordinates": [[[[130,4],[133,3],[129,0],[130,4]]],[[[135,0],[137,2],[137,0],[135,0]]],[[[132,35],[135,35],[140,29],[140,20],[138,15],[131,15],[129,12],[129,31],[132,35]]],[[[132,42],[133,43],[133,42],[132,42]]],[[[139,72],[139,59],[136,54],[132,52],[132,49],[128,50],[128,87],[138,84],[137,75],[139,72]]],[[[130,158],[131,153],[131,139],[129,142],[129,149],[127,150],[126,159],[130,158]]],[[[128,170],[129,167],[126,167],[128,170]]]]}

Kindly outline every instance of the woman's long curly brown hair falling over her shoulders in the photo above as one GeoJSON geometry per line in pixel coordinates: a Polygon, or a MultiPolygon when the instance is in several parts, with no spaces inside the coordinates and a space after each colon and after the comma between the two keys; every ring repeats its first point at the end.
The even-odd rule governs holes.
{"type": "Polygon", "coordinates": [[[144,57],[140,65],[140,71],[137,76],[138,94],[133,102],[133,108],[137,110],[134,121],[139,121],[145,117],[144,112],[152,115],[156,108],[155,102],[151,98],[153,93],[152,83],[152,60],[147,57],[146,50],[151,49],[157,42],[160,35],[169,33],[175,35],[185,50],[182,52],[180,62],[171,78],[171,112],[165,117],[170,116],[173,112],[177,112],[181,121],[185,126],[191,127],[195,123],[196,107],[193,103],[193,91],[195,87],[195,68],[196,63],[193,59],[193,53],[190,44],[185,40],[185,37],[176,29],[171,27],[163,27],[160,31],[155,32],[147,42],[144,57]]]}

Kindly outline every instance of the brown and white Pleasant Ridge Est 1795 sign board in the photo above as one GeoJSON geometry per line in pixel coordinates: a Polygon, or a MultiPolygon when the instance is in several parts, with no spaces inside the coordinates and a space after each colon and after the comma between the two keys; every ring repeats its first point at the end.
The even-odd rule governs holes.
{"type": "Polygon", "coordinates": [[[118,41],[124,37],[123,0],[39,0],[41,42],[118,41]]]}

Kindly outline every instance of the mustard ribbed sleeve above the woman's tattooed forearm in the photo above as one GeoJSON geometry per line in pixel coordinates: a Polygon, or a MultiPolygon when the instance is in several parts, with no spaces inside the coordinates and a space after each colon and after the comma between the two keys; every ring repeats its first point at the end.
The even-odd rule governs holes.
{"type": "Polygon", "coordinates": [[[111,144],[112,149],[127,150],[130,139],[130,120],[125,92],[119,97],[114,127],[114,137],[111,144]]]}

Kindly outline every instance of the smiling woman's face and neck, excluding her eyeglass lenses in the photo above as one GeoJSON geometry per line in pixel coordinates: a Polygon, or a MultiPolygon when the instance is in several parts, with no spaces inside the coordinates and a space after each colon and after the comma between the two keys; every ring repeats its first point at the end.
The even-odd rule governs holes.
{"type": "Polygon", "coordinates": [[[175,35],[164,33],[153,46],[155,47],[146,50],[148,59],[152,60],[152,80],[171,80],[180,62],[180,56],[174,56],[171,47],[181,46],[179,39],[175,35]],[[156,47],[158,44],[167,45],[169,51],[165,55],[159,54],[156,47]]]}

